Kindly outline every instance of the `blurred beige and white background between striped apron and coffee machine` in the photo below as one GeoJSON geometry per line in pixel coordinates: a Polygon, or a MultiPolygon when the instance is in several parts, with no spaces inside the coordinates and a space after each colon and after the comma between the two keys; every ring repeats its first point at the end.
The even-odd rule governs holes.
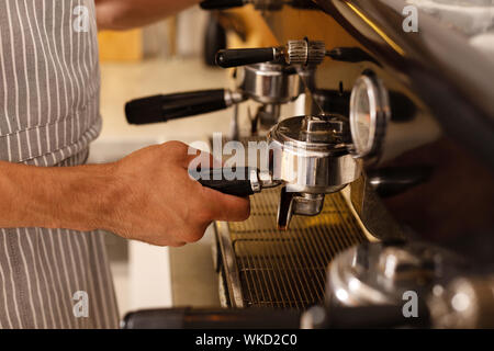
{"type": "MultiPolygon", "coordinates": [[[[266,24],[257,16],[247,8],[220,19],[197,7],[144,29],[100,33],[103,129],[91,146],[89,162],[114,161],[168,140],[207,141],[213,132],[227,134],[232,110],[166,124],[131,126],[124,105],[146,95],[229,87],[232,72],[212,66],[212,57],[225,45],[273,44],[266,24]],[[249,18],[246,24],[244,16],[249,18]],[[223,21],[222,26],[218,21],[223,21]],[[225,33],[222,27],[228,25],[231,30],[225,33]]],[[[149,307],[218,306],[211,235],[209,230],[195,245],[168,249],[108,234],[121,315],[149,307]],[[197,291],[195,284],[211,288],[197,291]]]]}

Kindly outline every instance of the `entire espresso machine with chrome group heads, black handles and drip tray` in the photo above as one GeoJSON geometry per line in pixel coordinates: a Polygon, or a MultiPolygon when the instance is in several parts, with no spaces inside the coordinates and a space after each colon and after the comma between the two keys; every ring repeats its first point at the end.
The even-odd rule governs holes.
{"type": "Polygon", "coordinates": [[[411,2],[203,3],[252,3],[285,44],[222,50],[236,89],[135,100],[127,120],[254,101],[249,135],[236,110],[231,139],[265,141],[267,157],[235,182],[200,170],[220,174],[204,186],[252,195],[247,222],[215,224],[224,309],[126,327],[494,327],[494,64],[471,41],[494,24],[464,31],[431,1],[406,32],[411,2]],[[295,100],[304,113],[282,115],[295,100]]]}

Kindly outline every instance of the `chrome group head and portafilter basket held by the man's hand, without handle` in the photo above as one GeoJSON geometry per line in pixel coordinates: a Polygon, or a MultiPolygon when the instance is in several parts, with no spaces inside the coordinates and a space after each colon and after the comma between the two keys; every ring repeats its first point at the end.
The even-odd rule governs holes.
{"type": "Polygon", "coordinates": [[[273,149],[272,174],[291,192],[322,194],[341,190],[361,174],[361,162],[347,150],[344,120],[338,116],[293,117],[268,135],[273,149]]]}

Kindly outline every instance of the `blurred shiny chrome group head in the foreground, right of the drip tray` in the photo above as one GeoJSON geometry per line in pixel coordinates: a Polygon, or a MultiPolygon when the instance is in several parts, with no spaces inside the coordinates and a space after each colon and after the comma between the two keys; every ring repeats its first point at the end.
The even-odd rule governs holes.
{"type": "Polygon", "coordinates": [[[462,258],[428,242],[364,244],[332,262],[326,297],[343,306],[400,304],[405,292],[427,296],[465,268],[462,258]]]}

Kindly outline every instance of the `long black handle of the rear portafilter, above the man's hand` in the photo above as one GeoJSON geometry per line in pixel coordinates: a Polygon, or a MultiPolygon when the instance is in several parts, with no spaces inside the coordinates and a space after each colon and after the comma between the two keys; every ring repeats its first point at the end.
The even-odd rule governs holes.
{"type": "Polygon", "coordinates": [[[125,115],[130,124],[150,124],[226,107],[224,89],[201,90],[133,100],[125,105],[125,115]]]}

